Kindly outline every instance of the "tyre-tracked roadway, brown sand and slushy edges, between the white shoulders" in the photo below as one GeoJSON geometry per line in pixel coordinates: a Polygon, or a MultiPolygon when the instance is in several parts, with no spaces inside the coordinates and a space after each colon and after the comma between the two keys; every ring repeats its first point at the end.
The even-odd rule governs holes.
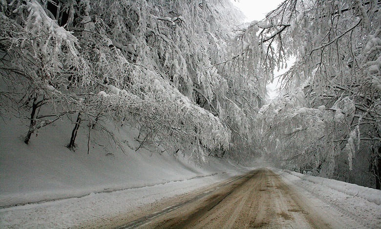
{"type": "Polygon", "coordinates": [[[161,208],[118,228],[366,228],[364,222],[305,196],[268,169],[161,208]]]}

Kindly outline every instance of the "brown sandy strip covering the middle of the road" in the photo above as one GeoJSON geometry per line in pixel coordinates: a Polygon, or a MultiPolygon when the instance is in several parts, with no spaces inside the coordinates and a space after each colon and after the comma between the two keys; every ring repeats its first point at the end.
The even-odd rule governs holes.
{"type": "Polygon", "coordinates": [[[254,171],[242,183],[163,215],[145,228],[329,228],[274,172],[254,171]]]}

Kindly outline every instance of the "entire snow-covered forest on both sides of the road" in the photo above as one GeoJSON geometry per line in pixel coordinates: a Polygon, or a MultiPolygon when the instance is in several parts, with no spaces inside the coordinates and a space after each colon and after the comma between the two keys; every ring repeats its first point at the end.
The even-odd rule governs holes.
{"type": "MultiPolygon", "coordinates": [[[[0,122],[139,130],[142,147],[381,189],[381,0],[1,0],[0,122]],[[291,66],[290,59],[295,59],[291,66]],[[266,85],[274,72],[278,93],[266,85]]],[[[46,139],[48,144],[49,139],[46,139]]],[[[162,151],[163,153],[163,151],[162,151]]]]}

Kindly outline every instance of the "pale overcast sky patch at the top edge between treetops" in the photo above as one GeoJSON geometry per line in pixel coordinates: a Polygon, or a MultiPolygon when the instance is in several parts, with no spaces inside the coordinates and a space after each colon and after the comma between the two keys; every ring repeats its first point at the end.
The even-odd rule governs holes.
{"type": "Polygon", "coordinates": [[[246,15],[247,22],[260,20],[283,0],[231,0],[246,15]]]}

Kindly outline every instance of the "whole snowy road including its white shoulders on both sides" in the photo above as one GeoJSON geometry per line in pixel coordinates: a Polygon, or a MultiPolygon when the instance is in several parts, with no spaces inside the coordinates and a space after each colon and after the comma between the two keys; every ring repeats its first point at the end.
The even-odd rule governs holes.
{"type": "Polygon", "coordinates": [[[3,208],[0,228],[377,229],[380,194],[267,168],[3,208]],[[357,194],[347,194],[353,191],[357,194]]]}

